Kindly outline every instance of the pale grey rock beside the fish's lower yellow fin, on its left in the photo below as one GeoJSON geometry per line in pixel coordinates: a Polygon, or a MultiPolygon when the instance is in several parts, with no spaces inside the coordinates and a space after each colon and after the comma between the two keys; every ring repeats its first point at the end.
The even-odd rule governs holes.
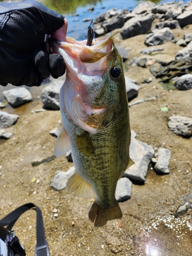
{"type": "Polygon", "coordinates": [[[62,172],[59,170],[55,177],[51,181],[51,187],[55,188],[56,190],[61,190],[66,187],[66,184],[69,178],[75,173],[75,167],[70,167],[67,172],[62,172]]]}

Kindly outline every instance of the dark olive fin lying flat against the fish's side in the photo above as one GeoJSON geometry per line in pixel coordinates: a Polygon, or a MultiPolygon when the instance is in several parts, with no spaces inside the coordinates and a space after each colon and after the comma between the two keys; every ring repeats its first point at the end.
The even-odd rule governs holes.
{"type": "Polygon", "coordinates": [[[75,137],[78,150],[85,156],[93,156],[94,147],[90,138],[90,134],[78,127],[75,137]]]}

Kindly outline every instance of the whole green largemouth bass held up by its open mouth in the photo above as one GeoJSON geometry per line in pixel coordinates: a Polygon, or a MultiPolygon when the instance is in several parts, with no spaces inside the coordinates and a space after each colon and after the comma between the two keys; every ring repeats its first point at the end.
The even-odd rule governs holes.
{"type": "Polygon", "coordinates": [[[95,227],[122,218],[115,198],[117,181],[130,159],[129,106],[122,58],[110,33],[94,39],[66,41],[49,39],[53,51],[66,64],[66,80],[60,89],[62,123],[54,148],[55,156],[71,150],[75,173],[67,190],[77,197],[96,199],[89,211],[95,227]]]}

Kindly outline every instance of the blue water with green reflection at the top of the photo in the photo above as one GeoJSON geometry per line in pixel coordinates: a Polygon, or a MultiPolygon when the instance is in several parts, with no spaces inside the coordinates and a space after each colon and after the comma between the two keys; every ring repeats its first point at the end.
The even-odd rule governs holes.
{"type": "MultiPolygon", "coordinates": [[[[114,7],[119,9],[127,8],[133,10],[141,1],[140,0],[42,0],[42,3],[53,9],[68,19],[68,36],[74,37],[76,40],[84,40],[87,38],[87,29],[90,22],[83,22],[83,19],[96,18],[100,13],[108,11],[114,7]],[[90,6],[94,7],[94,11],[88,11],[90,6]],[[78,16],[74,16],[78,14],[78,16]]],[[[174,2],[170,0],[153,0],[155,4],[166,2],[174,2]]],[[[184,0],[183,3],[187,1],[184,0]]]]}

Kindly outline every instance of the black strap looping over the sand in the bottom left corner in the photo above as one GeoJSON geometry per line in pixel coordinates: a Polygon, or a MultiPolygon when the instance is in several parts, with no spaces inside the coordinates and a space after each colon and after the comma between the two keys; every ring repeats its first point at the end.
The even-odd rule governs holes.
{"type": "MultiPolygon", "coordinates": [[[[42,220],[42,213],[38,206],[33,203],[24,204],[14,211],[10,212],[5,218],[0,221],[0,225],[7,226],[6,231],[10,231],[16,222],[16,220],[24,214],[25,211],[34,208],[36,210],[36,247],[35,256],[49,256],[48,243],[45,239],[44,222],[42,220]]],[[[1,228],[1,226],[0,226],[1,228]]],[[[5,228],[4,228],[5,229],[5,228]]],[[[2,234],[2,228],[0,229],[0,234],[2,234]]],[[[5,230],[4,230],[5,234],[5,230]]]]}

